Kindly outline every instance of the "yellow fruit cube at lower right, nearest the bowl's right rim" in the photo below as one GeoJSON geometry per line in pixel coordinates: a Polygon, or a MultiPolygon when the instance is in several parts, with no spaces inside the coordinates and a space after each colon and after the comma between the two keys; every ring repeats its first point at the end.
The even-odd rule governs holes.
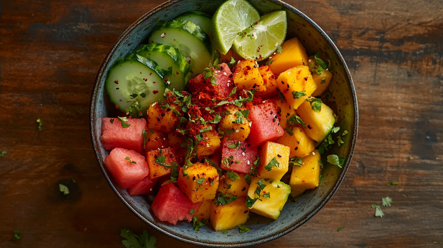
{"type": "Polygon", "coordinates": [[[319,186],[320,160],[319,151],[314,150],[303,158],[303,163],[300,167],[297,165],[292,167],[291,180],[289,181],[292,197],[302,194],[305,190],[319,186]]]}

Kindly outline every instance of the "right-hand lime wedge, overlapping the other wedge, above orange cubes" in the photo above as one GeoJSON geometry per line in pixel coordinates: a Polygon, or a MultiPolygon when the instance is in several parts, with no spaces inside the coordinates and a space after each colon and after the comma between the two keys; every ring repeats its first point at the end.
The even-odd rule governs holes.
{"type": "Polygon", "coordinates": [[[284,42],[287,29],[285,11],[263,15],[257,24],[246,28],[242,35],[237,36],[233,42],[234,50],[243,58],[264,60],[284,42]]]}

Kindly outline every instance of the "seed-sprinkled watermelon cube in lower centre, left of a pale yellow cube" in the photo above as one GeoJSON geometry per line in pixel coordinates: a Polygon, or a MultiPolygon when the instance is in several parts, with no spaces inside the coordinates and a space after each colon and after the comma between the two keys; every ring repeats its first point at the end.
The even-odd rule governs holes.
{"type": "Polygon", "coordinates": [[[257,147],[248,142],[223,139],[221,149],[221,169],[248,173],[257,160],[257,147]],[[228,147],[229,146],[229,147],[228,147]],[[231,147],[231,148],[230,148],[231,147]],[[232,149],[235,147],[234,149],[232,149]],[[230,158],[232,156],[232,159],[230,158]],[[229,167],[226,162],[229,162],[229,167]],[[236,163],[240,161],[240,163],[236,163]]]}

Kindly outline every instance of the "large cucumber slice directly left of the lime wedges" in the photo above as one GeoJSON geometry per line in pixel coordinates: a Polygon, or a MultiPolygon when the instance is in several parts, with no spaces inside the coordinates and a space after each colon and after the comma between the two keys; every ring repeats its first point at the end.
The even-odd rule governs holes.
{"type": "Polygon", "coordinates": [[[203,73],[206,65],[214,59],[214,49],[208,35],[190,21],[171,20],[161,24],[152,32],[149,42],[179,49],[185,60],[190,63],[193,76],[203,73]]]}

